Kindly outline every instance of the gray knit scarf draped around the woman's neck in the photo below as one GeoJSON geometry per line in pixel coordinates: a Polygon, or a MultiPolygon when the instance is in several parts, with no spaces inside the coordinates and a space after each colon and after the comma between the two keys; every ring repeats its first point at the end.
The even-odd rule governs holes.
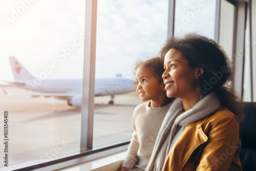
{"type": "Polygon", "coordinates": [[[145,170],[162,170],[164,160],[170,148],[172,148],[172,145],[185,127],[189,123],[205,118],[216,111],[220,106],[221,104],[218,97],[214,93],[210,93],[202,98],[192,109],[184,112],[181,99],[176,98],[163,120],[151,159],[145,170]]]}

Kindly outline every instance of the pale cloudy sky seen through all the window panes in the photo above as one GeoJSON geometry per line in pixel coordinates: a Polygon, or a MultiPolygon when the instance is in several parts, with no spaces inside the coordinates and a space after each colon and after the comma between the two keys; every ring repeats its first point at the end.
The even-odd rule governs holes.
{"type": "MultiPolygon", "coordinates": [[[[176,1],[175,35],[214,38],[215,0],[176,1]]],[[[140,59],[158,54],[167,38],[167,0],[98,0],[96,78],[131,77],[140,59]]],[[[14,81],[9,56],[35,77],[53,61],[51,78],[82,78],[85,1],[0,2],[0,80],[14,81]]]]}

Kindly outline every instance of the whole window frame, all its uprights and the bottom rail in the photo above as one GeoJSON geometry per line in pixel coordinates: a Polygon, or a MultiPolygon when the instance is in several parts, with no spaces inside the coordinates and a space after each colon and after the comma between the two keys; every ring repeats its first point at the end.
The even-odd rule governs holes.
{"type": "MultiPolygon", "coordinates": [[[[218,42],[219,36],[219,15],[220,15],[220,1],[217,0],[216,10],[216,31],[215,40],[218,42]]],[[[228,1],[228,0],[226,0],[228,1]]],[[[230,2],[230,1],[228,1],[230,2]]],[[[233,2],[233,1],[232,1],[233,2]]],[[[244,34],[241,34],[241,29],[244,29],[244,25],[238,23],[245,23],[245,1],[237,2],[237,22],[234,26],[234,51],[236,49],[244,48],[244,34]],[[240,42],[240,43],[238,43],[240,42]]],[[[40,163],[36,165],[27,166],[24,168],[18,168],[17,166],[11,167],[14,170],[33,170],[38,168],[46,169],[59,169],[68,167],[71,165],[78,165],[89,160],[93,160],[99,157],[108,156],[114,153],[125,151],[129,146],[130,141],[120,142],[115,145],[93,149],[93,122],[94,122],[94,89],[95,89],[95,60],[96,60],[96,25],[97,25],[97,0],[86,1],[86,27],[84,39],[84,62],[83,62],[83,91],[82,91],[82,119],[81,119],[81,141],[80,141],[80,153],[69,157],[63,157],[61,159],[40,163]]],[[[174,35],[174,18],[175,18],[175,0],[169,0],[168,7],[168,26],[167,37],[174,35]]],[[[243,30],[245,31],[245,30],[243,30]]],[[[244,60],[244,59],[243,59],[244,60]]],[[[243,82],[243,66],[241,63],[235,63],[236,73],[234,73],[234,88],[240,93],[243,82]],[[239,75],[238,75],[239,73],[239,75]],[[241,84],[241,85],[240,85],[241,84]]],[[[241,92],[242,93],[242,92],[241,92]]]]}

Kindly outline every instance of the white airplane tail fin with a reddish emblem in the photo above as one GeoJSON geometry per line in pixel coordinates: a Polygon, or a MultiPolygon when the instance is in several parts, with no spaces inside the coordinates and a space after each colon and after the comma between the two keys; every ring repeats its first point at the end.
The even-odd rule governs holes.
{"type": "Polygon", "coordinates": [[[14,57],[9,57],[12,67],[12,73],[16,81],[33,79],[34,77],[23,67],[14,57]]]}

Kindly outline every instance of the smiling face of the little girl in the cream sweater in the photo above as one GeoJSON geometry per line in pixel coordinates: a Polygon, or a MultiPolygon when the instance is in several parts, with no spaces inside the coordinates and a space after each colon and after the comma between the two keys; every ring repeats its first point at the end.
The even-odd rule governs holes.
{"type": "Polygon", "coordinates": [[[156,78],[150,69],[140,66],[136,71],[136,79],[138,82],[137,93],[141,101],[158,100],[160,98],[164,84],[162,81],[159,82],[159,78],[156,78]]]}

